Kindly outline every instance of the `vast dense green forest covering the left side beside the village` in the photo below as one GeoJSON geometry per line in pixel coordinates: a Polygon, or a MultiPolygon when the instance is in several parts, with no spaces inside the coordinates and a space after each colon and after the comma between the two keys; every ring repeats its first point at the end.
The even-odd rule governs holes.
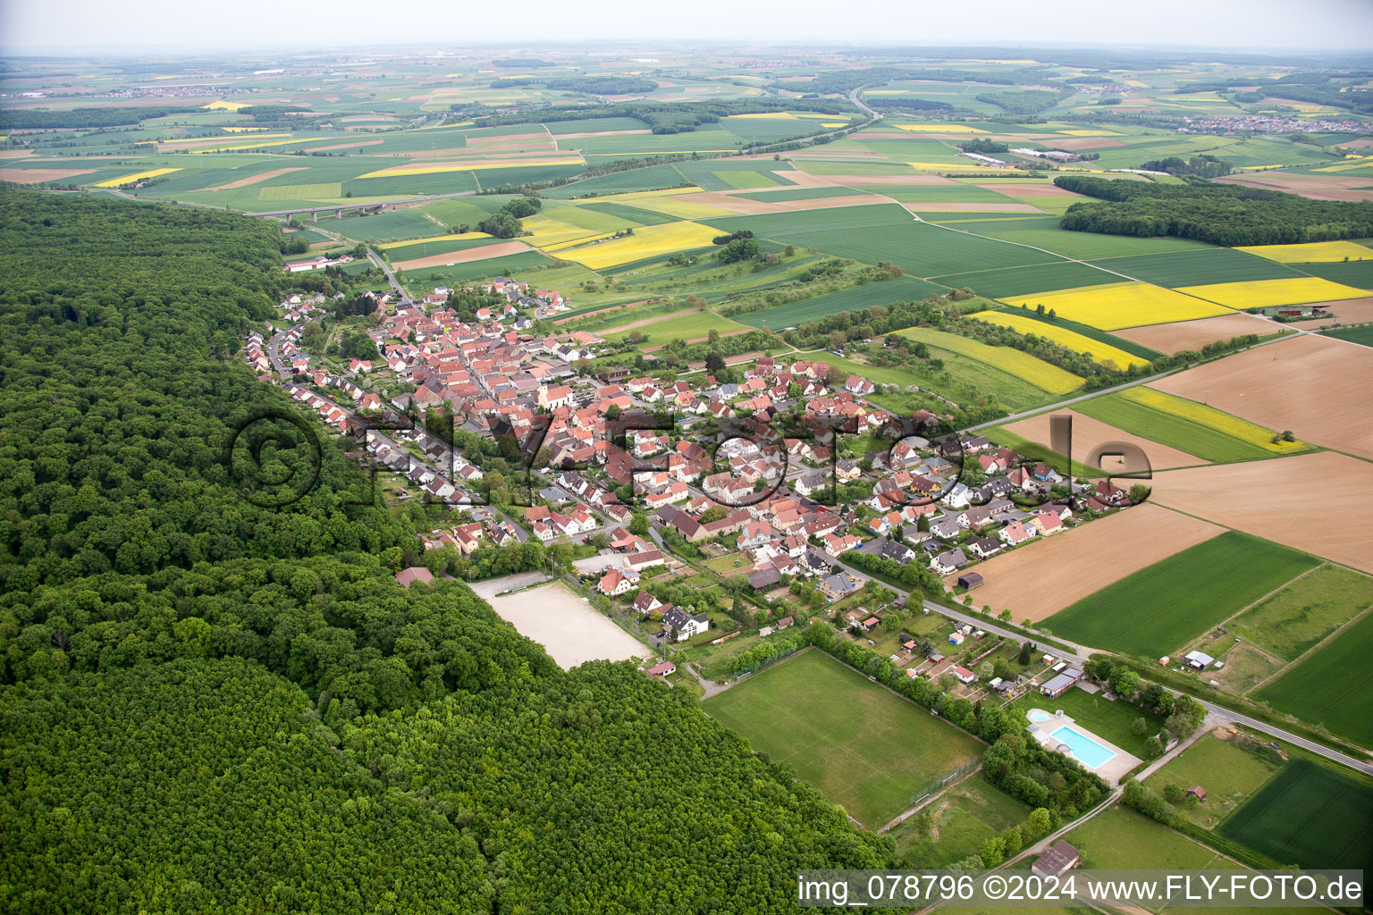
{"type": "Polygon", "coordinates": [[[401,589],[323,428],[309,495],[243,498],[277,235],[0,193],[0,910],[770,912],[890,864],[685,693],[401,589]]]}

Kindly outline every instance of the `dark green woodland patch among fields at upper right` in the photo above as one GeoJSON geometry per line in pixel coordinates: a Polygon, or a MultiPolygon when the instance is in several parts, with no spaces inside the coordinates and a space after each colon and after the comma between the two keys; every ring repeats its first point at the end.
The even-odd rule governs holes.
{"type": "Polygon", "coordinates": [[[1074,203],[1059,221],[1074,232],[1171,235],[1226,247],[1300,244],[1373,235],[1373,203],[1311,200],[1237,184],[1153,184],[1093,176],[1053,182],[1105,203],[1074,203]]]}

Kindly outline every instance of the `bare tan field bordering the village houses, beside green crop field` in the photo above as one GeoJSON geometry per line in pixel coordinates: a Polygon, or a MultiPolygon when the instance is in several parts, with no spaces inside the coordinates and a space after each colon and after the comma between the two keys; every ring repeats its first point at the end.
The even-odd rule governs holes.
{"type": "MultiPolygon", "coordinates": [[[[986,580],[972,593],[973,604],[990,604],[993,613],[1009,608],[1016,623],[1038,623],[1223,530],[1148,502],[1135,505],[973,567],[986,580]]],[[[953,587],[957,578],[950,575],[945,583],[953,587]]]]}

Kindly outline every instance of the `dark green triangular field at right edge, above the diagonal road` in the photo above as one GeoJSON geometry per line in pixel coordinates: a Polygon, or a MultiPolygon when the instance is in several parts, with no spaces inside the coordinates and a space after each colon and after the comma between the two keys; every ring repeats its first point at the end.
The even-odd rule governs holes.
{"type": "Polygon", "coordinates": [[[1373,746],[1373,615],[1335,637],[1252,698],[1332,734],[1373,746]]]}

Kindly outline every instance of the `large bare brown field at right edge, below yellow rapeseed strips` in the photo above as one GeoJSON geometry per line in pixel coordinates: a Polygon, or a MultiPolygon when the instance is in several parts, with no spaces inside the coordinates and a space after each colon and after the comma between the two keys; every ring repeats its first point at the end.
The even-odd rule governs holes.
{"type": "MultiPolygon", "coordinates": [[[[1373,458],[1373,423],[1368,420],[1373,358],[1357,343],[1303,333],[1151,387],[1274,431],[1291,429],[1306,442],[1373,458]]],[[[1319,498],[1315,490],[1310,495],[1319,498]]]]}

